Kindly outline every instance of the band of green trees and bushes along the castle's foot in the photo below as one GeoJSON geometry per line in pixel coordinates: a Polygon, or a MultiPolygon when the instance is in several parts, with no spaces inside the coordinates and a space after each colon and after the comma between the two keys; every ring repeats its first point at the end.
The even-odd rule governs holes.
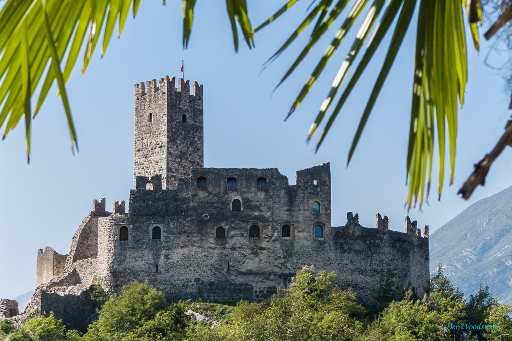
{"type": "MultiPolygon", "coordinates": [[[[413,287],[397,287],[388,271],[380,278],[375,306],[362,306],[355,293],[333,286],[335,276],[305,267],[290,289],[278,290],[270,301],[236,305],[190,301],[166,305],[162,292],[148,282],[134,282],[103,303],[87,331],[66,330],[50,313],[28,321],[22,330],[13,328],[10,320],[0,323],[0,340],[469,341],[512,334],[508,317],[512,305],[498,304],[487,287],[480,287],[466,301],[442,269],[431,277],[421,300],[413,287]]],[[[106,300],[99,287],[95,298],[106,300]]]]}

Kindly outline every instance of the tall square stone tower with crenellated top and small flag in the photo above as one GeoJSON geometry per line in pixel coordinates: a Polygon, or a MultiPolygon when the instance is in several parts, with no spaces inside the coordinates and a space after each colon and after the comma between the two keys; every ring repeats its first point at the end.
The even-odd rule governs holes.
{"type": "Polygon", "coordinates": [[[203,167],[203,86],[168,76],[135,84],[134,185],[137,176],[162,175],[175,189],[190,167],[203,167]]]}

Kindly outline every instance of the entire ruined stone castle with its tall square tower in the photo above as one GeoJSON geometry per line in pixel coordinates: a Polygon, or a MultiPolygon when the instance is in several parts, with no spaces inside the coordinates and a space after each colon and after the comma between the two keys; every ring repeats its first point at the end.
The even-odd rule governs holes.
{"type": "MultiPolygon", "coordinates": [[[[83,328],[100,285],[108,294],[145,281],[168,301],[259,301],[287,287],[297,270],[334,271],[335,283],[371,302],[391,268],[421,294],[429,279],[428,226],[421,235],[406,217],[405,233],[375,228],[347,214],[331,226],[329,164],[297,171],[295,185],[276,168],[203,167],[203,86],[175,78],[135,84],[134,185],[106,211],[105,199],[76,231],[68,255],[37,253],[36,291],[24,314],[53,311],[83,328]]],[[[18,314],[0,301],[0,320],[18,314]]]]}

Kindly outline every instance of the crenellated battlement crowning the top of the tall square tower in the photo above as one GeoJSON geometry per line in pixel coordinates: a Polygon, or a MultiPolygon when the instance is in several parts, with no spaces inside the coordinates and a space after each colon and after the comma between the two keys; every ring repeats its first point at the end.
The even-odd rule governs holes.
{"type": "Polygon", "coordinates": [[[145,84],[144,82],[140,82],[138,84],[134,84],[135,96],[142,97],[147,94],[154,94],[158,92],[178,92],[195,96],[197,98],[203,97],[203,85],[198,82],[192,82],[192,93],[190,93],[190,80],[178,78],[178,87],[176,87],[175,83],[176,77],[169,78],[169,76],[159,78],[158,85],[156,79],[146,81],[145,84]]]}

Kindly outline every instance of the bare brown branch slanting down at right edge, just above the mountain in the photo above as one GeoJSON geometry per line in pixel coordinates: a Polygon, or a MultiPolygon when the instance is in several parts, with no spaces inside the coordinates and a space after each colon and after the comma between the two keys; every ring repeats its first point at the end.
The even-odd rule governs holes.
{"type": "Polygon", "coordinates": [[[464,199],[469,199],[478,185],[485,184],[485,177],[490,166],[500,156],[506,146],[512,147],[512,120],[505,125],[505,132],[500,140],[494,146],[493,150],[486,154],[478,164],[475,165],[475,171],[467,178],[464,185],[457,194],[461,194],[464,199]]]}

